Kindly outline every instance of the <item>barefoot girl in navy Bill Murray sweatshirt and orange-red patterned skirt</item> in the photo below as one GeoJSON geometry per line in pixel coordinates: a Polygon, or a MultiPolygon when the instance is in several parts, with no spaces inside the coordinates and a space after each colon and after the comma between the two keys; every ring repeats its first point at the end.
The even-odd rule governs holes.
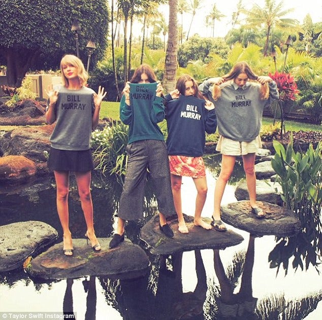
{"type": "Polygon", "coordinates": [[[177,80],[176,90],[167,95],[166,100],[169,100],[166,102],[167,148],[178,230],[188,233],[181,205],[182,176],[191,176],[196,185],[194,224],[211,229],[211,225],[201,219],[208,190],[202,155],[206,141],[205,132],[214,133],[217,127],[214,105],[204,99],[196,80],[189,75],[183,75],[177,80]],[[172,98],[174,99],[170,100],[172,98]]]}

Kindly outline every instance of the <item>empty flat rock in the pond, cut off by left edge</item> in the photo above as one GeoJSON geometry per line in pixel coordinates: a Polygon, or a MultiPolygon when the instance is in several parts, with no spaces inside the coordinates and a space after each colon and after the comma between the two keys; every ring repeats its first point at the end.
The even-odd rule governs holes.
{"type": "Polygon", "coordinates": [[[22,267],[27,257],[44,250],[58,237],[57,231],[40,221],[0,226],[0,271],[22,267]]]}

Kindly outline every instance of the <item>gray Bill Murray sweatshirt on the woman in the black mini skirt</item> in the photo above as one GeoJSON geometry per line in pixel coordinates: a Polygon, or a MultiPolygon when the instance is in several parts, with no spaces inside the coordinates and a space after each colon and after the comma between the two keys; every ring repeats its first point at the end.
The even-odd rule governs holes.
{"type": "Polygon", "coordinates": [[[87,87],[59,90],[56,102],[56,125],[50,137],[51,147],[60,150],[88,150],[94,112],[94,91],[87,87]]]}

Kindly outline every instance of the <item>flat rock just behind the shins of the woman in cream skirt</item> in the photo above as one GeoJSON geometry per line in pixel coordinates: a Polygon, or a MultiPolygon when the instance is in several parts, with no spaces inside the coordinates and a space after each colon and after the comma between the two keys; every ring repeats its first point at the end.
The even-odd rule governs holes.
{"type": "MultiPolygon", "coordinates": [[[[281,205],[283,200],[280,196],[282,188],[279,184],[270,180],[256,180],[256,199],[281,205]]],[[[238,201],[249,200],[246,181],[242,181],[235,190],[235,197],[238,201]]]]}

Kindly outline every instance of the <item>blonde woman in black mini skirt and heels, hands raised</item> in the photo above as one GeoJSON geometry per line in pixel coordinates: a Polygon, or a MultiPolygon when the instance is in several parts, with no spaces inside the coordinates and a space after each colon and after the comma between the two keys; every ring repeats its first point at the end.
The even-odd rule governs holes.
{"type": "Polygon", "coordinates": [[[73,256],[72,233],[69,228],[69,175],[74,171],[87,230],[85,237],[93,251],[100,251],[93,224],[93,204],[90,194],[91,131],[98,125],[101,102],[107,92],[98,93],[86,87],[88,75],[82,61],[65,55],[60,61],[62,85],[49,88],[46,121],[56,123],[50,137],[48,167],[54,171],[57,188],[57,211],[63,232],[63,253],[73,256]]]}

